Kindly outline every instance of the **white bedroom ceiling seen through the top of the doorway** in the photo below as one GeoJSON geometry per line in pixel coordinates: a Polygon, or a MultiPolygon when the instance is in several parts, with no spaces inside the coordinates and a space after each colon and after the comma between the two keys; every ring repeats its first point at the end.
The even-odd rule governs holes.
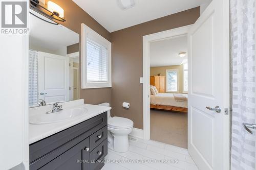
{"type": "Polygon", "coordinates": [[[150,43],[150,66],[180,65],[187,60],[180,57],[181,52],[187,53],[187,36],[173,37],[172,39],[155,41],[150,43]]]}

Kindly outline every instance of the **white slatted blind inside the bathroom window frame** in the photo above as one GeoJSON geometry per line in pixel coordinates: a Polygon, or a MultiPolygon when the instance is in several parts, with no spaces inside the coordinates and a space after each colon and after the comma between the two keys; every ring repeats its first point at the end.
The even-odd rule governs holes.
{"type": "Polygon", "coordinates": [[[108,82],[108,48],[87,38],[87,82],[108,82]]]}

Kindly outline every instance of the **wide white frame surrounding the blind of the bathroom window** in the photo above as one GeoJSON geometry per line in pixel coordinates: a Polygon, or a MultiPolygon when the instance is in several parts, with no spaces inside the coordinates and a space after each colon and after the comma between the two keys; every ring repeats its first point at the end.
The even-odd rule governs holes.
{"type": "Polygon", "coordinates": [[[90,27],[81,24],[81,89],[112,87],[112,43],[96,33],[90,27]],[[108,47],[108,82],[87,82],[87,38],[93,36],[97,43],[108,47]]]}

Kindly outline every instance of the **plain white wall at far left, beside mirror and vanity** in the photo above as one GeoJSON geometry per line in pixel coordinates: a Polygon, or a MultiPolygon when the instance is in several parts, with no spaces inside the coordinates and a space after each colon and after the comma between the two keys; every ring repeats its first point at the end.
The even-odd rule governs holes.
{"type": "Polygon", "coordinates": [[[0,168],[28,167],[28,36],[0,36],[0,168]],[[27,45],[26,45],[27,44],[27,45]],[[5,64],[11,63],[11,64],[5,64]]]}

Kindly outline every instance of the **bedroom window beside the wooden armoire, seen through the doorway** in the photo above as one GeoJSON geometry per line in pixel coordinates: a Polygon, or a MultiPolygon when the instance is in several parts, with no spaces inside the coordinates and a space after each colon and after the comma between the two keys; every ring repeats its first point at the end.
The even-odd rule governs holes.
{"type": "Polygon", "coordinates": [[[177,69],[166,69],[166,92],[178,92],[177,69]]]}

